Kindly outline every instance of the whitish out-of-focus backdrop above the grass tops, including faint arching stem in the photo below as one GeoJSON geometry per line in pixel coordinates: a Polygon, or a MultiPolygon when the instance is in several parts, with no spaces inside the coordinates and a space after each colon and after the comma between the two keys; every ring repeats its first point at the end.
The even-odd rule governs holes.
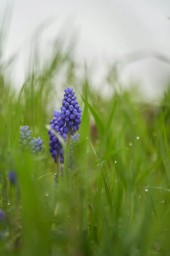
{"type": "Polygon", "coordinates": [[[122,86],[134,83],[151,99],[163,94],[170,78],[168,0],[3,0],[1,18],[6,9],[9,24],[3,54],[4,58],[18,54],[10,70],[16,86],[24,81],[30,44],[41,26],[42,59],[60,35],[65,47],[72,42],[78,74],[86,61],[95,87],[104,85],[108,92],[106,74],[118,63],[122,86]]]}

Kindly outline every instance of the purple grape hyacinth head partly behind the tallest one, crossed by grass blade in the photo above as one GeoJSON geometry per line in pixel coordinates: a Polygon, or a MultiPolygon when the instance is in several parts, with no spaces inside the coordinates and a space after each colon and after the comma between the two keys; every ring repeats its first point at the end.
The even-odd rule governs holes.
{"type": "Polygon", "coordinates": [[[49,139],[50,139],[50,153],[51,156],[54,158],[54,161],[57,162],[57,150],[59,150],[60,153],[60,162],[64,162],[64,154],[63,149],[60,140],[54,135],[53,130],[55,130],[59,135],[63,137],[64,140],[66,140],[66,134],[63,131],[64,127],[60,127],[61,119],[59,118],[60,111],[54,110],[53,116],[54,118],[50,121],[50,129],[48,130],[49,139]]]}

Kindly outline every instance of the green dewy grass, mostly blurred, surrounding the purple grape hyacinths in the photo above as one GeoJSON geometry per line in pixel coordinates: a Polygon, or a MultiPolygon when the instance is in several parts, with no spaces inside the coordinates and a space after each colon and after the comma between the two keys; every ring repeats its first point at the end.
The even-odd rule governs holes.
{"type": "Polygon", "coordinates": [[[63,50],[56,40],[49,60],[40,63],[33,40],[18,90],[6,76],[15,58],[4,63],[4,37],[2,28],[0,209],[7,222],[0,226],[0,255],[170,255],[170,87],[159,101],[146,103],[137,87],[121,88],[112,68],[105,97],[86,65],[77,76],[71,47],[63,50]],[[67,86],[83,110],[78,176],[70,173],[69,184],[54,188],[46,125],[67,86]],[[44,141],[44,162],[19,153],[20,125],[44,141]],[[11,169],[16,187],[8,180],[11,169]]]}

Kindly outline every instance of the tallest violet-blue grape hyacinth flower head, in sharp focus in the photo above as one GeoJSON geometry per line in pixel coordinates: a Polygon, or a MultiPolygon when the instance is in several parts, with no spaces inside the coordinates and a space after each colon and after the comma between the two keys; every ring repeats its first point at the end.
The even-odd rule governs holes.
{"type": "Polygon", "coordinates": [[[71,134],[74,135],[74,132],[79,129],[79,124],[81,124],[82,110],[78,105],[73,88],[67,87],[64,92],[61,113],[59,114],[61,118],[59,126],[63,127],[65,133],[68,133],[68,128],[70,127],[72,129],[71,134]]]}

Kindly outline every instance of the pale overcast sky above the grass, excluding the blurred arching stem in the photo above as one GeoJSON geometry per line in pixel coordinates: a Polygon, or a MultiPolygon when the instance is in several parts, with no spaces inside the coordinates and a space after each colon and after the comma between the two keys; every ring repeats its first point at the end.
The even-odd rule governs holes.
{"type": "MultiPolygon", "coordinates": [[[[0,1],[0,14],[6,3],[0,1]]],[[[14,52],[35,27],[46,18],[56,18],[48,29],[46,43],[54,38],[63,22],[73,25],[78,35],[76,58],[94,66],[93,79],[100,82],[107,63],[133,51],[158,52],[170,58],[169,0],[15,0],[6,55],[14,52]]],[[[26,51],[24,48],[22,51],[26,51]]],[[[21,70],[20,70],[21,71],[21,70]]],[[[124,83],[141,82],[144,91],[160,94],[170,77],[170,65],[153,58],[137,61],[120,74],[124,83]]],[[[23,72],[15,72],[20,84],[23,72]],[[22,75],[21,75],[22,73],[22,75]]]]}

